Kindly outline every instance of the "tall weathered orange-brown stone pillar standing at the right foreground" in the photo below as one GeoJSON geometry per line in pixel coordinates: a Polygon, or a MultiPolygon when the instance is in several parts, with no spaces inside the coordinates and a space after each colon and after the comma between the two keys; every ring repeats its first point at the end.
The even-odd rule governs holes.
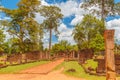
{"type": "Polygon", "coordinates": [[[114,59],[114,30],[105,30],[105,66],[106,80],[116,80],[115,59],[114,59]]]}

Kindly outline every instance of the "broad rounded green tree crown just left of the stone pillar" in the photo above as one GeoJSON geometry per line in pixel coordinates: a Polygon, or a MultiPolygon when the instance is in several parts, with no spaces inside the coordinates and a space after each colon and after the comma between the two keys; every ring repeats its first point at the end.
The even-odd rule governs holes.
{"type": "Polygon", "coordinates": [[[82,22],[75,26],[73,37],[80,50],[94,48],[91,45],[93,42],[103,46],[103,44],[101,44],[103,42],[99,43],[98,39],[102,39],[103,41],[100,35],[103,35],[104,29],[105,25],[103,21],[91,15],[85,15],[82,22]]]}

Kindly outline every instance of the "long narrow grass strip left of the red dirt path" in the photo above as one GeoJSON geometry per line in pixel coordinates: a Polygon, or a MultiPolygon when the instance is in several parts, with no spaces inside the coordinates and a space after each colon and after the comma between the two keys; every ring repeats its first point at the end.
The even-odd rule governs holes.
{"type": "Polygon", "coordinates": [[[45,63],[48,63],[49,61],[40,61],[40,62],[33,62],[33,63],[27,63],[27,64],[21,64],[16,66],[8,66],[6,68],[1,68],[0,73],[16,73],[21,70],[25,70],[34,66],[42,65],[45,63]]]}

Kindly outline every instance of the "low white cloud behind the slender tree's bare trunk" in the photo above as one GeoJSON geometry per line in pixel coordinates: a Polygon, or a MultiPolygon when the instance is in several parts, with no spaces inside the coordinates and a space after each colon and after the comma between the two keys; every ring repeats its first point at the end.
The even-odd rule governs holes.
{"type": "MultiPolygon", "coordinates": [[[[67,40],[69,43],[75,44],[75,41],[72,36],[73,28],[68,28],[65,24],[62,23],[58,27],[58,31],[60,32],[60,34],[58,35],[58,42],[60,42],[61,40],[67,40]]],[[[49,47],[49,32],[44,34],[43,42],[44,42],[44,48],[48,48],[49,47]]],[[[58,42],[53,41],[52,45],[58,42]]]]}

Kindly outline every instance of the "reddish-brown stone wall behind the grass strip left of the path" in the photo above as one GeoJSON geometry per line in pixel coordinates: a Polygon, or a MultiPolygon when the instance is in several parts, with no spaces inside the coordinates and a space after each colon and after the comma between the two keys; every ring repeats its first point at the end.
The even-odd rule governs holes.
{"type": "Polygon", "coordinates": [[[10,62],[10,64],[19,64],[19,63],[26,63],[30,61],[38,61],[38,60],[47,60],[50,58],[50,55],[48,52],[28,52],[25,54],[11,54],[7,56],[7,61],[10,62]]]}

